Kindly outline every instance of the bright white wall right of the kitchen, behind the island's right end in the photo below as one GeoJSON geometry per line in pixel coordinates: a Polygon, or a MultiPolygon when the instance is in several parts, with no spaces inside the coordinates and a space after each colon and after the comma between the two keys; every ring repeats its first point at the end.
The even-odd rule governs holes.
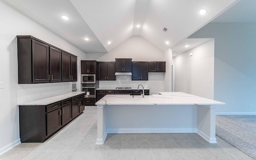
{"type": "Polygon", "coordinates": [[[214,99],[214,40],[176,56],[174,61],[175,92],[214,99]]]}

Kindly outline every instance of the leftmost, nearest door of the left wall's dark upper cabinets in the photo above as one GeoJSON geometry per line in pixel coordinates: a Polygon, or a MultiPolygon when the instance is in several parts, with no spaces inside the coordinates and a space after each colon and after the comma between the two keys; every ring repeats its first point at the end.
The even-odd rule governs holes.
{"type": "Polygon", "coordinates": [[[49,46],[32,40],[32,57],[33,82],[50,82],[49,46]]]}

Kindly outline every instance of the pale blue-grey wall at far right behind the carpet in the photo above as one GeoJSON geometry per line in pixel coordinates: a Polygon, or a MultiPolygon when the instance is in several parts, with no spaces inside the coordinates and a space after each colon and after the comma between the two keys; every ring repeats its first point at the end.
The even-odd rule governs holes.
{"type": "Polygon", "coordinates": [[[209,23],[189,38],[215,39],[217,114],[256,114],[256,23],[209,23]]]}

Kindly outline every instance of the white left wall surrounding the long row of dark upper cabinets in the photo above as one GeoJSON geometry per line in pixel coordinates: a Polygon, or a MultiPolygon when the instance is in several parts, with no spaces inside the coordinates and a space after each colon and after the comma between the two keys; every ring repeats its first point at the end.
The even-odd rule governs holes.
{"type": "MultiPolygon", "coordinates": [[[[31,92],[35,93],[38,92],[38,90],[41,90],[44,96],[56,94],[54,91],[58,87],[63,90],[71,91],[70,82],[64,83],[63,85],[61,83],[18,85],[16,36],[32,35],[78,56],[78,59],[80,60],[85,59],[86,55],[81,50],[72,46],[72,44],[56,36],[20,12],[10,8],[2,1],[0,1],[0,12],[2,14],[0,25],[0,82],[4,82],[4,89],[0,89],[1,154],[20,142],[17,88],[22,89],[24,92],[27,92],[27,94],[33,94],[31,92]],[[51,92],[44,92],[46,91],[46,88],[47,91],[51,92]]],[[[78,72],[80,73],[80,68],[78,68],[78,72]]],[[[79,73],[78,79],[80,79],[79,73]]]]}

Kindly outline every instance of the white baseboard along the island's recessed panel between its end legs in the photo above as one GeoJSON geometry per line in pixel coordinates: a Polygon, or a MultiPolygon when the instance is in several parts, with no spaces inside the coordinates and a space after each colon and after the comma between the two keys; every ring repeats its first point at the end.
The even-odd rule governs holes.
{"type": "Polygon", "coordinates": [[[197,128],[108,128],[107,133],[196,133],[197,128]]]}

